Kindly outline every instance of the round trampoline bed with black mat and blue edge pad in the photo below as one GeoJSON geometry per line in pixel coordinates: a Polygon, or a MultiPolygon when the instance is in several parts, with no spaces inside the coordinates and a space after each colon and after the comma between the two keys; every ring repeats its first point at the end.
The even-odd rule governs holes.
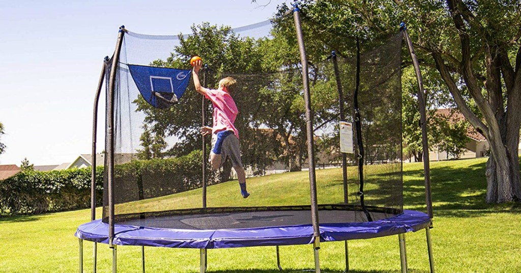
{"type": "MultiPolygon", "coordinates": [[[[372,222],[351,222],[361,217],[359,212],[333,212],[334,217],[330,217],[331,211],[319,211],[321,242],[391,236],[425,229],[431,224],[429,216],[418,211],[404,210],[386,218],[371,213],[377,219],[372,222]]],[[[277,210],[147,217],[118,222],[113,243],[195,249],[313,243],[313,226],[299,223],[311,223],[311,212],[277,210]],[[230,228],[233,226],[239,228],[230,228]]],[[[94,220],[79,226],[75,236],[108,243],[108,227],[101,219],[94,220]]]]}

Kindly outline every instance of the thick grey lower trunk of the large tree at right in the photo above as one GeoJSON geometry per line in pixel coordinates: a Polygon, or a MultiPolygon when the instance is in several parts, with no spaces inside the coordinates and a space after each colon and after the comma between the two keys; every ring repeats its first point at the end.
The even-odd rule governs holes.
{"type": "MultiPolygon", "coordinates": [[[[511,141],[513,142],[513,141],[511,141]]],[[[486,164],[487,203],[521,200],[517,145],[494,147],[486,164]],[[505,148],[506,147],[506,148],[505,148]]]]}

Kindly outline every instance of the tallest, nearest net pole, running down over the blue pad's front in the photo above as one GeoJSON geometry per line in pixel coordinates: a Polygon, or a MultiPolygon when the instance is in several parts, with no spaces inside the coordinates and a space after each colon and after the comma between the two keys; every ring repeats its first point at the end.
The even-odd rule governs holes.
{"type": "Polygon", "coordinates": [[[313,141],[313,110],[311,109],[311,94],[309,94],[309,79],[307,70],[306,48],[304,46],[304,35],[300,19],[300,8],[293,4],[293,19],[297,42],[299,43],[300,61],[302,65],[302,84],[304,88],[304,103],[306,107],[306,131],[307,131],[307,154],[309,158],[309,194],[311,196],[311,221],[313,224],[313,241],[315,272],[320,273],[320,262],[318,250],[320,249],[320,230],[318,225],[318,205],[317,205],[317,181],[315,176],[315,151],[313,141]]]}

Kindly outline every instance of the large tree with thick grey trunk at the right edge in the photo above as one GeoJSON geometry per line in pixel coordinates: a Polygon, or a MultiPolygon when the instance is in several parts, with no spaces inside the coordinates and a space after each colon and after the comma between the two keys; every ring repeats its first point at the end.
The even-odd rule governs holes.
{"type": "Polygon", "coordinates": [[[467,121],[490,143],[487,202],[521,199],[521,9],[516,0],[304,1],[309,24],[330,48],[407,23],[424,67],[435,68],[467,121]]]}

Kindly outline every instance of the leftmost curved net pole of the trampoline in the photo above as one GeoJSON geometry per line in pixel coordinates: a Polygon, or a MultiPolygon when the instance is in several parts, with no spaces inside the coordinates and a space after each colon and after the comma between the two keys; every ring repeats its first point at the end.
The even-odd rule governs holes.
{"type": "Polygon", "coordinates": [[[94,98],[94,109],[92,111],[92,154],[91,154],[91,221],[96,219],[96,135],[97,135],[97,110],[100,102],[101,89],[103,88],[103,80],[105,79],[105,68],[107,67],[108,57],[103,60],[101,68],[100,80],[96,89],[94,98]]]}

